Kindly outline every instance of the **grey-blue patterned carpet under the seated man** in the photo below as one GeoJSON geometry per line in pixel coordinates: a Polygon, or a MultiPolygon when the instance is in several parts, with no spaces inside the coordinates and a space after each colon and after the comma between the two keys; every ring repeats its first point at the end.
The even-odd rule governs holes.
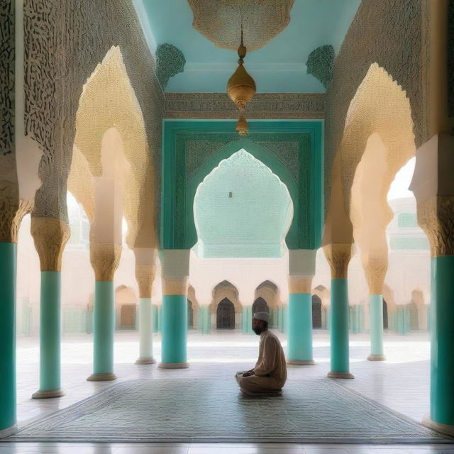
{"type": "Polygon", "coordinates": [[[282,397],[240,395],[233,377],[131,380],[28,424],[9,441],[446,443],[327,378],[282,397]]]}

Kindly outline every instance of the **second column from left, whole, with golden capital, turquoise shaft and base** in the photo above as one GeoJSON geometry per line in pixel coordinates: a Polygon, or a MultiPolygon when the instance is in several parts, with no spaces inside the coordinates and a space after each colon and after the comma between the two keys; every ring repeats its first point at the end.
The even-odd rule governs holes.
{"type": "Polygon", "coordinates": [[[31,218],[31,234],[41,268],[40,388],[33,399],[60,397],[60,296],[62,253],[70,226],[55,218],[31,218]]]}

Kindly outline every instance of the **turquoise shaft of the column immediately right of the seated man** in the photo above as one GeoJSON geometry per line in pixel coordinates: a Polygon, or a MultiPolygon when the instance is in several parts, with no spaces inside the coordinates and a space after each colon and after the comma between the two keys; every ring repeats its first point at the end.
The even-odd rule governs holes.
{"type": "Polygon", "coordinates": [[[312,354],[312,295],[291,293],[289,295],[289,326],[287,359],[294,361],[313,360],[312,354]]]}

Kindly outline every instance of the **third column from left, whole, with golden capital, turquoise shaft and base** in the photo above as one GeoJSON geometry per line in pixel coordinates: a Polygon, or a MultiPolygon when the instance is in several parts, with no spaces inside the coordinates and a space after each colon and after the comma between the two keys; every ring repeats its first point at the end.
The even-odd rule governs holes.
{"type": "Polygon", "coordinates": [[[116,379],[114,374],[114,275],[120,257],[121,245],[119,244],[90,243],[90,262],[95,276],[93,373],[87,378],[90,382],[116,379]]]}

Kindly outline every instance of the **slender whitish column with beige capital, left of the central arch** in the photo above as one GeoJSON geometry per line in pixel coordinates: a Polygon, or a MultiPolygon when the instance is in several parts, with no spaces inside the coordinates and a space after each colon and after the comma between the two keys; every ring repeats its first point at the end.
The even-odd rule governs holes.
{"type": "Polygon", "coordinates": [[[135,364],[153,364],[153,311],[151,289],[155,277],[156,250],[135,248],[135,279],[139,287],[139,358],[135,364]]]}

